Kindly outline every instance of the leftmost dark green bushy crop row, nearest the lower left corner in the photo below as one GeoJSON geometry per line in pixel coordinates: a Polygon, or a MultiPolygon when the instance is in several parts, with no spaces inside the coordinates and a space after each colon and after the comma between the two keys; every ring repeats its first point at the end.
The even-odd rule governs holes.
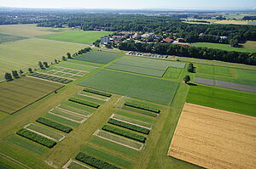
{"type": "Polygon", "coordinates": [[[43,136],[35,133],[35,132],[31,132],[29,130],[26,130],[25,128],[21,128],[18,132],[16,132],[18,135],[24,137],[24,138],[28,138],[38,144],[42,144],[48,148],[52,148],[55,146],[56,142],[49,139],[49,138],[44,138],[43,136]]]}

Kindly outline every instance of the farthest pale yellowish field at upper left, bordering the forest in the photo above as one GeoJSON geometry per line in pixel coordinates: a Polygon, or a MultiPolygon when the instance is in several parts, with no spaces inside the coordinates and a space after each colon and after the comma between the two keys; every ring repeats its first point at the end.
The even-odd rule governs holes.
{"type": "Polygon", "coordinates": [[[0,25],[0,33],[20,37],[39,37],[55,34],[61,31],[70,31],[66,28],[37,27],[36,25],[0,25]]]}

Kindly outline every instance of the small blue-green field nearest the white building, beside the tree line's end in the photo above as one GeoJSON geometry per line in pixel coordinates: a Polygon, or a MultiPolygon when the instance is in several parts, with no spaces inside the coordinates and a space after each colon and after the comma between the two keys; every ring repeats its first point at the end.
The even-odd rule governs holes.
{"type": "Polygon", "coordinates": [[[113,54],[106,52],[89,52],[86,54],[79,55],[74,59],[87,62],[94,62],[97,64],[108,64],[108,62],[112,61],[113,59],[117,59],[120,56],[122,56],[122,54],[113,54]]]}

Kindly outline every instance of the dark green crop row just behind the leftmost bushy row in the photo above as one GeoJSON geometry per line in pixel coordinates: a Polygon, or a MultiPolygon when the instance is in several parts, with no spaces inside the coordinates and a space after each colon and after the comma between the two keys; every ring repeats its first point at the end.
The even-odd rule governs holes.
{"type": "Polygon", "coordinates": [[[58,122],[55,122],[55,121],[50,121],[48,119],[44,119],[43,117],[39,117],[37,120],[37,122],[41,123],[41,124],[44,124],[48,127],[53,127],[57,130],[60,130],[61,132],[71,132],[73,129],[71,127],[67,127],[67,126],[64,126],[58,122]]]}

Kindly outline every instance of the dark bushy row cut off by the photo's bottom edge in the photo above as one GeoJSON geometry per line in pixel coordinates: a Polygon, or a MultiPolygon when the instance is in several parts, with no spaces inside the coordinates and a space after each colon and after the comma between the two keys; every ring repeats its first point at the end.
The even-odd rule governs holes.
{"type": "Polygon", "coordinates": [[[75,157],[76,160],[84,162],[85,164],[88,164],[90,166],[94,166],[96,168],[101,169],[119,169],[117,166],[113,166],[109,164],[108,162],[101,161],[99,159],[96,159],[95,157],[92,157],[90,155],[85,155],[84,153],[79,152],[79,154],[75,157]]]}

